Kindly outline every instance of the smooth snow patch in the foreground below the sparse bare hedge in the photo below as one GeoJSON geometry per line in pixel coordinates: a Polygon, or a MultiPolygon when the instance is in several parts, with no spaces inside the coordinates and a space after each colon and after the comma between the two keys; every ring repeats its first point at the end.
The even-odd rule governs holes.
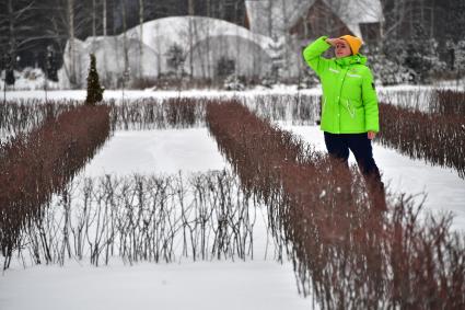
{"type": "Polygon", "coordinates": [[[198,262],[37,266],[0,280],[0,309],[312,309],[290,264],[198,262]],[[25,298],[26,297],[26,298],[25,298]]]}

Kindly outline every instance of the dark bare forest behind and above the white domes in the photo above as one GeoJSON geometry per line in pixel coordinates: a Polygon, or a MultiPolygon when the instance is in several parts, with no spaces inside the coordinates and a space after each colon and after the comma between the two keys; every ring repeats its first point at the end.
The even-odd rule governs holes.
{"type": "Polygon", "coordinates": [[[120,34],[140,22],[178,15],[244,25],[245,4],[244,0],[0,0],[1,69],[45,68],[47,46],[60,58],[68,39],[120,34]]]}

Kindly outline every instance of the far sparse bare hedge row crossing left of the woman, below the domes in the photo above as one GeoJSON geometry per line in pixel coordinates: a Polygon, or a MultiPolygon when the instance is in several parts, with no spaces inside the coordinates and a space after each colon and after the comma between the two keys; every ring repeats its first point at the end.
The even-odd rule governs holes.
{"type": "MultiPolygon", "coordinates": [[[[314,124],[319,115],[319,96],[316,95],[257,95],[241,100],[260,117],[272,120],[309,125],[314,124]]],[[[106,104],[111,106],[113,129],[147,130],[205,126],[205,108],[209,101],[207,97],[147,97],[118,104],[111,100],[106,104]]],[[[27,133],[40,126],[47,117],[56,117],[79,105],[80,102],[73,100],[7,102],[0,105],[0,138],[27,133]]]]}

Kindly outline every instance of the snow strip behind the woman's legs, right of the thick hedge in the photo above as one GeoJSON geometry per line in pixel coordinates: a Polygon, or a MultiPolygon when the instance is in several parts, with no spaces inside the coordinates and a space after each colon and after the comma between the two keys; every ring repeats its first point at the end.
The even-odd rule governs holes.
{"type": "MultiPolygon", "coordinates": [[[[323,131],[317,126],[280,125],[312,143],[316,150],[326,152],[323,131]]],[[[383,182],[392,193],[417,195],[420,203],[426,194],[425,209],[434,215],[453,213],[452,228],[465,231],[465,180],[452,169],[432,167],[421,160],[412,160],[380,143],[373,143],[373,157],[382,173],[383,182]]],[[[357,164],[350,153],[349,163],[357,164]]]]}

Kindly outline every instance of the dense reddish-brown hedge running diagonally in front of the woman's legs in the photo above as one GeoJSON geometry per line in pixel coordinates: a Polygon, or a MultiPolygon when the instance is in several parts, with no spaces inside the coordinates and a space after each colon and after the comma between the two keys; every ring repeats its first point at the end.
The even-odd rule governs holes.
{"type": "Polygon", "coordinates": [[[465,308],[465,245],[450,218],[420,225],[405,196],[380,213],[360,174],[237,102],[210,103],[207,125],[243,186],[266,202],[301,291],[322,309],[465,308]]]}

